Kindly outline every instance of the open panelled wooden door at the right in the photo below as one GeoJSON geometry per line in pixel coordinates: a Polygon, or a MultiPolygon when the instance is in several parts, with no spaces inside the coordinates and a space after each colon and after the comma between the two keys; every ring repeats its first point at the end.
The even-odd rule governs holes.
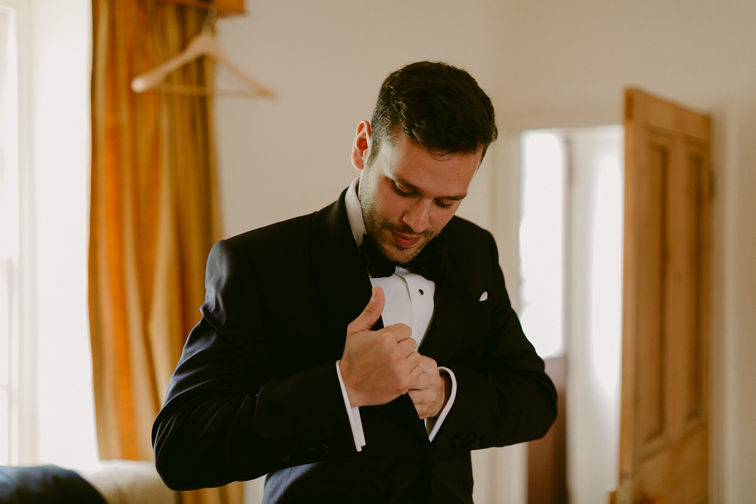
{"type": "Polygon", "coordinates": [[[624,100],[620,486],[615,502],[708,500],[708,116],[624,100]]]}

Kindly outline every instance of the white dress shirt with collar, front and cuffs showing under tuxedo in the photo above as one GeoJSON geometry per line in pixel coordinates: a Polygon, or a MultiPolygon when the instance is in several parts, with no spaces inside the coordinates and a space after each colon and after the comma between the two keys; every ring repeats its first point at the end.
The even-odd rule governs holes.
{"type": "MultiPolygon", "coordinates": [[[[359,177],[352,181],[352,185],[346,191],[345,197],[346,215],[349,218],[349,226],[352,227],[352,235],[355,237],[357,246],[362,245],[363,235],[365,234],[362,209],[357,196],[359,181],[359,177]]],[[[368,272],[368,274],[370,273],[368,272]]],[[[386,297],[386,305],[384,305],[383,314],[381,314],[381,317],[383,317],[383,326],[391,326],[395,323],[407,324],[412,329],[412,339],[417,342],[417,347],[420,348],[420,344],[425,339],[426,332],[428,332],[428,327],[433,318],[435,282],[397,266],[395,273],[391,277],[370,277],[370,283],[374,287],[383,289],[383,294],[386,297]]],[[[349,404],[349,395],[346,393],[344,380],[341,377],[339,362],[340,360],[336,361],[336,374],[339,376],[339,385],[341,385],[346,413],[349,415],[349,424],[352,426],[355,447],[357,451],[361,451],[362,447],[365,446],[365,436],[362,431],[360,409],[358,407],[353,408],[349,404]]],[[[425,420],[426,431],[428,431],[428,438],[431,441],[433,441],[438,428],[441,427],[449,410],[451,410],[454,397],[457,395],[457,379],[454,377],[451,369],[439,367],[438,370],[448,373],[451,378],[451,394],[438,417],[425,420]]]]}

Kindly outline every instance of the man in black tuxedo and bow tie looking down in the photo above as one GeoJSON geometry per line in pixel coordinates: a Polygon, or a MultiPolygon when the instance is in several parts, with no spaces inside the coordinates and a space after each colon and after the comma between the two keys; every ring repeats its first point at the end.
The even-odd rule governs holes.
{"type": "Polygon", "coordinates": [[[496,138],[468,73],[392,73],[336,203],[218,242],[153,426],[176,490],[268,474],[264,502],[472,502],[470,450],[543,436],[556,391],[491,234],[454,217],[496,138]]]}

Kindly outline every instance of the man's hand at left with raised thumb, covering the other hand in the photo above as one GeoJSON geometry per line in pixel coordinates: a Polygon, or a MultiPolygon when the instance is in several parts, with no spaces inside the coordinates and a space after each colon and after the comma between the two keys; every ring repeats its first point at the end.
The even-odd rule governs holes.
{"type": "Polygon", "coordinates": [[[422,357],[415,351],[417,343],[407,325],[370,330],[385,302],[383,289],[373,287],[364,311],[346,328],[339,369],[352,407],[386,404],[406,394],[421,375],[422,357]]]}

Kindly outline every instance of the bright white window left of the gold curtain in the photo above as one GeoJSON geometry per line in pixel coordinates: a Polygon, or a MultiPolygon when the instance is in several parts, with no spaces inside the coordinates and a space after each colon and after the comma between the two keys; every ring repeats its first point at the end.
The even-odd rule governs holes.
{"type": "Polygon", "coordinates": [[[97,461],[90,59],[91,2],[0,0],[0,464],[97,461]]]}

